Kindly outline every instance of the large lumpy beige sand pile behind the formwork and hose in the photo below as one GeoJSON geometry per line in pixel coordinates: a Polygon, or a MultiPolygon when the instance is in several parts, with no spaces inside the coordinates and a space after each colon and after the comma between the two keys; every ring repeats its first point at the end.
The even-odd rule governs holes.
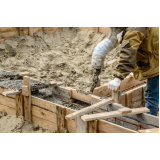
{"type": "MultiPolygon", "coordinates": [[[[91,56],[95,46],[107,37],[92,30],[63,28],[53,34],[36,32],[33,37],[18,36],[0,43],[0,68],[28,71],[33,78],[60,81],[65,86],[88,91],[92,83],[91,56]]],[[[115,59],[107,56],[101,73],[101,84],[113,78],[115,59]]]]}

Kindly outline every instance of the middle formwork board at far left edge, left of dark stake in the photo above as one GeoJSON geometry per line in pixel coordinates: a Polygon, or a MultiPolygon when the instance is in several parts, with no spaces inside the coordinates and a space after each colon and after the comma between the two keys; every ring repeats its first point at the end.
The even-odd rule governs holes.
{"type": "Polygon", "coordinates": [[[0,104],[16,109],[16,100],[0,95],[0,104]]]}

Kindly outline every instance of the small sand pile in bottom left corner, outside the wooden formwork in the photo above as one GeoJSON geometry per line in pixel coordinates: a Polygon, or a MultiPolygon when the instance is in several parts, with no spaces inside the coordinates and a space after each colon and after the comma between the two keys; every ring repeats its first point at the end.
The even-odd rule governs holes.
{"type": "Polygon", "coordinates": [[[51,133],[48,129],[39,128],[37,124],[25,121],[24,117],[8,116],[0,111],[0,133],[51,133]]]}

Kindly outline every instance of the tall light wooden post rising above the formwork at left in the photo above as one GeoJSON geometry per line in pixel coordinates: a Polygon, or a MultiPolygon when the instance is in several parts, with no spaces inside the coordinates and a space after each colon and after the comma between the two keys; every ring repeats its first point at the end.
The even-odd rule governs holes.
{"type": "Polygon", "coordinates": [[[24,95],[24,117],[32,121],[30,78],[28,76],[23,77],[22,95],[24,95]]]}

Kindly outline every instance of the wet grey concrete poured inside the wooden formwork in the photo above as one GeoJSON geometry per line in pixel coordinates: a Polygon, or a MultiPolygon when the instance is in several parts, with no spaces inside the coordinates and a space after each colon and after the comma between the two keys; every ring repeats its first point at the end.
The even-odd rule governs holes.
{"type": "MultiPolygon", "coordinates": [[[[0,87],[2,88],[22,91],[22,86],[23,86],[23,80],[20,80],[20,79],[13,79],[13,80],[5,79],[5,80],[0,81],[0,87]]],[[[50,86],[49,82],[38,82],[37,83],[35,81],[32,81],[31,82],[31,91],[32,91],[31,95],[47,100],[47,101],[50,101],[50,102],[53,102],[53,103],[63,105],[65,107],[68,107],[74,110],[80,110],[84,107],[90,106],[90,104],[87,104],[85,102],[78,101],[78,100],[76,100],[74,103],[66,102],[63,99],[59,98],[56,94],[49,91],[48,89],[44,89],[49,86],[50,86]]],[[[83,92],[83,91],[80,91],[80,92],[83,92]]],[[[88,94],[88,93],[85,93],[85,94],[88,94]]]]}

